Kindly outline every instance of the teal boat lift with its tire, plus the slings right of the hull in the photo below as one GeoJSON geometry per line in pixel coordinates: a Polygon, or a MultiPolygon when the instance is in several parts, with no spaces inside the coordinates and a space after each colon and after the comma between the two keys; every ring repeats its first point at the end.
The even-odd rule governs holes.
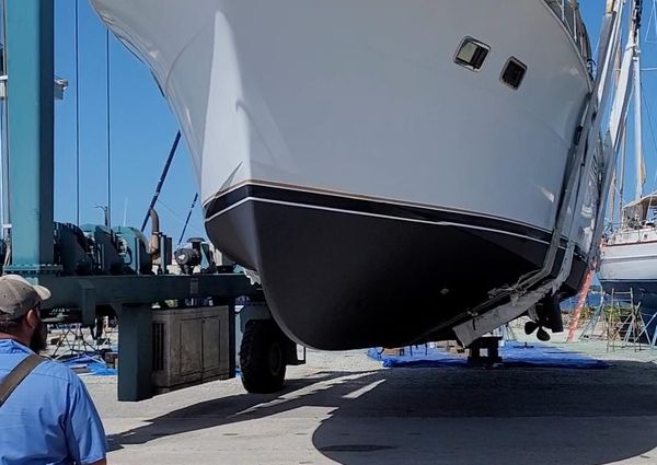
{"type": "MultiPolygon", "coordinates": [[[[601,34],[602,60],[598,63],[599,72],[590,95],[591,102],[583,118],[583,129],[599,127],[600,120],[607,115],[607,112],[601,109],[607,107],[608,96],[613,86],[611,78],[614,74],[615,50],[622,33],[621,12],[624,4],[622,0],[608,0],[601,34]]],[[[636,38],[641,2],[634,0],[632,4],[636,11],[632,19],[630,37],[636,38]]],[[[250,392],[272,392],[280,388],[286,364],[302,361],[297,357],[296,345],[283,335],[272,319],[262,290],[253,287],[244,275],[228,272],[173,276],[166,274],[166,266],[162,265],[161,274],[147,275],[145,271],[148,271],[148,267],[145,264],[153,257],[149,254],[148,243],[139,230],[112,230],[94,225],[82,230],[76,225],[54,223],[54,2],[7,0],[5,27],[8,78],[0,78],[0,81],[4,80],[7,83],[5,102],[10,115],[10,163],[9,176],[5,176],[5,179],[9,178],[9,186],[4,186],[9,193],[9,202],[5,202],[4,207],[9,207],[11,212],[11,221],[5,221],[5,224],[11,223],[11,241],[8,247],[11,264],[4,267],[3,272],[20,274],[53,290],[54,298],[47,301],[43,309],[46,317],[65,315],[64,319],[67,322],[93,325],[100,315],[118,316],[120,400],[140,400],[153,395],[153,356],[157,356],[153,352],[153,315],[162,312],[153,311],[153,304],[168,300],[208,300],[212,305],[224,305],[228,309],[229,324],[223,325],[222,337],[229,340],[230,353],[229,367],[222,376],[230,377],[235,374],[235,299],[249,299],[247,305],[240,312],[240,326],[243,330],[240,356],[244,386],[250,392]],[[122,259],[118,269],[111,265],[117,257],[122,259]]],[[[590,167],[595,158],[589,155],[591,151],[587,148],[598,146],[601,153],[597,160],[601,177],[599,194],[600,198],[607,197],[624,129],[630,94],[627,77],[632,58],[632,53],[626,50],[609,117],[609,130],[603,139],[597,139],[596,131],[587,130],[580,141],[585,143],[577,144],[575,163],[572,163],[566,185],[566,193],[570,196],[577,182],[575,167],[580,164],[590,167]]],[[[589,170],[584,172],[588,173],[589,170]]],[[[564,201],[564,205],[568,206],[569,202],[564,201]]],[[[598,208],[598,213],[603,214],[603,202],[600,202],[598,208]]],[[[562,210],[565,212],[566,208],[562,210]]],[[[560,214],[560,233],[566,228],[565,218],[566,214],[560,214]]],[[[599,241],[601,234],[602,230],[599,226],[593,231],[593,243],[599,241]]],[[[555,234],[555,237],[560,236],[561,234],[555,234]]],[[[159,234],[159,244],[163,245],[158,247],[159,253],[164,255],[160,257],[160,263],[165,264],[166,237],[162,234],[159,234]]],[[[528,278],[527,282],[523,281],[521,289],[517,289],[516,305],[510,305],[512,309],[509,305],[496,309],[503,319],[533,309],[542,297],[554,289],[555,283],[548,282],[537,292],[523,293],[537,282],[544,282],[550,270],[557,265],[558,243],[555,239],[551,244],[551,254],[543,269],[537,276],[528,278]]],[[[193,268],[187,259],[203,259],[203,252],[197,245],[192,244],[188,248],[194,247],[197,248],[196,254],[181,254],[187,269],[193,268]]],[[[572,254],[570,247],[569,253],[572,254]]],[[[561,261],[562,272],[557,280],[564,279],[565,271],[569,269],[569,260],[562,258],[561,261]]],[[[504,295],[508,295],[508,292],[497,295],[497,299],[504,295]]],[[[189,312],[193,310],[188,309],[189,312]]],[[[551,322],[544,319],[550,319],[551,314],[555,313],[554,310],[544,312],[548,318],[538,315],[535,319],[539,327],[551,326],[551,322]]],[[[456,327],[461,341],[470,345],[497,327],[497,316],[499,315],[488,313],[479,315],[476,312],[463,315],[463,322],[456,327]]],[[[158,333],[158,337],[162,335],[158,333]]]]}

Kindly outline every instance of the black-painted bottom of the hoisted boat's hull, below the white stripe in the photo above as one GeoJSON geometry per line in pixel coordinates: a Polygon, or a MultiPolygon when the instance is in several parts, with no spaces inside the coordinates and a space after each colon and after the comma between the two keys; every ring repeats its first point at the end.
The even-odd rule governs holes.
{"type": "MultiPolygon", "coordinates": [[[[436,224],[245,199],[206,223],[219,249],[258,271],[288,336],[347,350],[453,338],[451,318],[541,267],[546,243],[449,214],[436,224]]],[[[564,298],[585,272],[576,258],[564,298]]]]}

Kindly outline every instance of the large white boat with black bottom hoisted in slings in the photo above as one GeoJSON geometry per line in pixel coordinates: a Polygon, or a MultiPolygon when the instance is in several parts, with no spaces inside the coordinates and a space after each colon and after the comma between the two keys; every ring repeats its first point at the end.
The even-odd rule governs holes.
{"type": "Polygon", "coordinates": [[[215,245],[327,350],[458,338],[558,301],[610,177],[577,1],[91,0],[185,136],[215,245]]]}

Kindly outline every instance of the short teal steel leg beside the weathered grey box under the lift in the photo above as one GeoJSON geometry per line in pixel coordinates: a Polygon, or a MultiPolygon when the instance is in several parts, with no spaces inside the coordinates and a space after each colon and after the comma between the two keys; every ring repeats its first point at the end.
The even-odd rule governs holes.
{"type": "Polygon", "coordinates": [[[138,402],[153,396],[152,307],[124,305],[118,333],[118,399],[138,402]]]}

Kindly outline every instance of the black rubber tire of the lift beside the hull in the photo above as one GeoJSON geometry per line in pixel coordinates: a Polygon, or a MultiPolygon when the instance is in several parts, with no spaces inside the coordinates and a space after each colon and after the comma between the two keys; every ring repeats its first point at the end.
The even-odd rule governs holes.
{"type": "Polygon", "coordinates": [[[252,319],[246,323],[240,347],[242,385],[252,394],[270,394],[285,383],[284,334],[276,323],[252,319]]]}

